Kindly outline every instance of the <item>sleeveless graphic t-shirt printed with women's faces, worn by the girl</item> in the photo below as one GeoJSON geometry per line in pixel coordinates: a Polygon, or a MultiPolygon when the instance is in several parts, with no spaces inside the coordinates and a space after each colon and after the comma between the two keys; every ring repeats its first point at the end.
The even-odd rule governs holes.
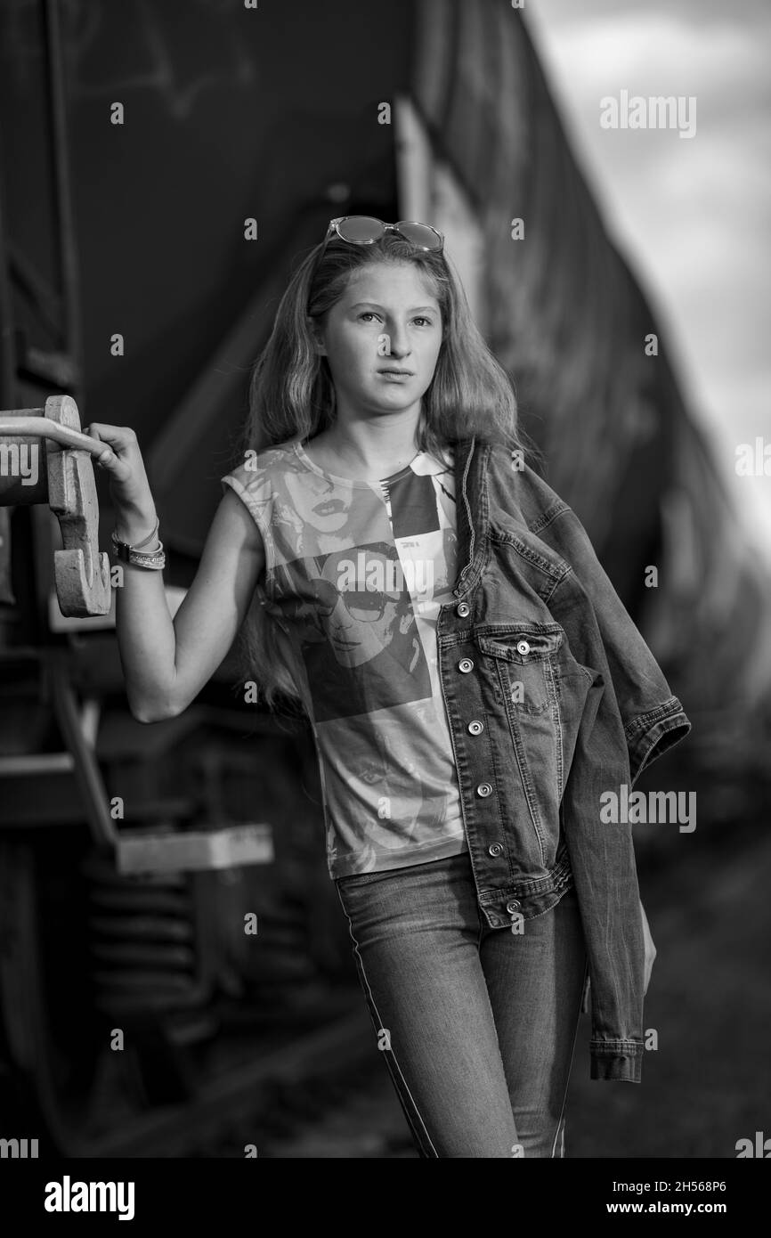
{"type": "Polygon", "coordinates": [[[467,849],[437,666],[457,566],[447,459],[356,482],[291,439],[222,479],[262,535],[257,588],[313,728],[332,878],[467,849]]]}

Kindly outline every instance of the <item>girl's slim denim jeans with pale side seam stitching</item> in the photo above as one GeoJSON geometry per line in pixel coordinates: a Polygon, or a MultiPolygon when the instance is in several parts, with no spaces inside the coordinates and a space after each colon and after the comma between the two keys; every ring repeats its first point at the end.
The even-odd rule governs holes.
{"type": "Polygon", "coordinates": [[[421,1156],[564,1156],[587,976],[575,890],[516,933],[480,917],[465,852],[335,884],[421,1156]]]}

